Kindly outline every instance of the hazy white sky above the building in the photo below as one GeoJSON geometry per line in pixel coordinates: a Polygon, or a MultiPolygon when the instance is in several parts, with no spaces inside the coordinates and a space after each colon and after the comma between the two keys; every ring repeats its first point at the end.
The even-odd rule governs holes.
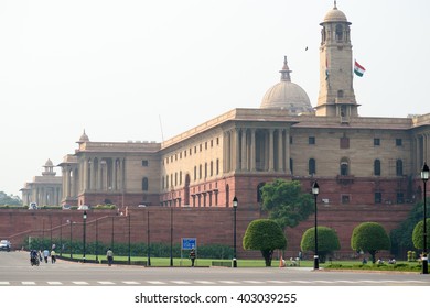
{"type": "MultiPolygon", "coordinates": [[[[332,0],[0,0],[0,190],[92,141],[162,141],[258,108],[283,55],[316,105],[332,0]],[[308,46],[308,51],[305,47],[308,46]]],[[[428,113],[430,1],[337,0],[364,117],[428,113]]],[[[61,175],[60,168],[56,169],[61,175]]]]}

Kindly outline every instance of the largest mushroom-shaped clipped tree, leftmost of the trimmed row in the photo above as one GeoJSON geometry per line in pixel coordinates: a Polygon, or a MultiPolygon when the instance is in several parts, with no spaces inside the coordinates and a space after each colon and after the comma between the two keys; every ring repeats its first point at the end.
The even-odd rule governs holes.
{"type": "Polygon", "coordinates": [[[270,219],[251,221],[244,237],[244,249],[259,250],[266,266],[271,266],[271,257],[276,249],[286,249],[287,239],[277,222],[270,219]]]}

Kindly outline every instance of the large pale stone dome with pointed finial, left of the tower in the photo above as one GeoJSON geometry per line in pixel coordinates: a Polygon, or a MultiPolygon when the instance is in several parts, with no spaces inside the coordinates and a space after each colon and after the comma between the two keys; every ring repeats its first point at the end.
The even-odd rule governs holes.
{"type": "Polygon", "coordinates": [[[279,72],[281,81],[266,91],[260,108],[288,110],[291,116],[313,113],[307,92],[299,85],[291,82],[291,70],[288,67],[287,57],[279,72]]]}

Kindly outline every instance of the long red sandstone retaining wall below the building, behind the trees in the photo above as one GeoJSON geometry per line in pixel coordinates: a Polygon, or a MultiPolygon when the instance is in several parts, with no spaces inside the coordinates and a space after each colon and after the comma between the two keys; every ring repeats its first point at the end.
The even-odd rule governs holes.
{"type": "MultiPolygon", "coordinates": [[[[353,229],[365,221],[383,223],[387,231],[397,228],[405,220],[411,205],[379,206],[320,206],[319,226],[334,228],[340,237],[341,251],[337,255],[351,256],[351,234],[353,229]]],[[[223,243],[233,245],[233,208],[162,208],[147,207],[130,209],[131,242],[147,242],[148,212],[150,213],[151,242],[170,243],[171,215],[173,221],[173,242],[181,238],[197,238],[197,244],[223,243]]],[[[0,210],[0,238],[10,239],[15,248],[25,237],[69,239],[72,221],[73,239],[83,238],[83,212],[77,210],[0,210]]],[[[259,256],[258,253],[244,252],[241,239],[248,223],[261,217],[258,210],[238,208],[237,249],[238,257],[259,256]]],[[[114,231],[115,242],[128,242],[129,219],[117,211],[90,210],[86,224],[87,242],[98,240],[109,244],[114,231]]],[[[313,227],[314,216],[293,229],[287,230],[288,250],[284,257],[297,256],[303,232],[313,227]]]]}

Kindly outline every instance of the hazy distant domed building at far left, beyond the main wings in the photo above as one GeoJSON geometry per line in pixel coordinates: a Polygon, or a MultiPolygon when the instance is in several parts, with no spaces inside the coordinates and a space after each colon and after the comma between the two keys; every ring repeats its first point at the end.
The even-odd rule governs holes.
{"type": "Polygon", "coordinates": [[[35,202],[39,206],[57,206],[62,200],[62,177],[56,176],[54,165],[47,160],[43,166],[42,176],[33,177],[33,182],[25,183],[21,188],[22,202],[28,206],[35,202]]]}

